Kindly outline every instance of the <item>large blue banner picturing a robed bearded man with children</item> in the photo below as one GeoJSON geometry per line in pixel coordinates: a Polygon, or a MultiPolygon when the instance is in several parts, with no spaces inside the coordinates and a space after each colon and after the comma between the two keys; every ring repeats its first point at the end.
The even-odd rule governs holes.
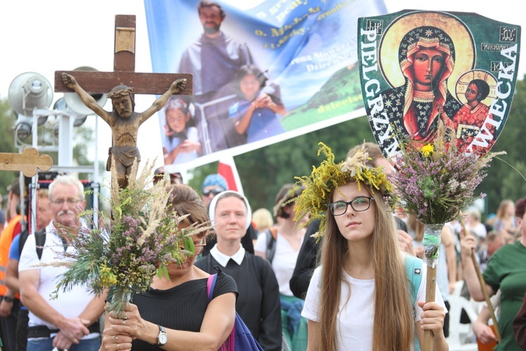
{"type": "Polygon", "coordinates": [[[356,23],[383,0],[217,1],[224,18],[198,3],[144,0],[154,72],[194,79],[159,112],[168,171],[365,114],[356,23]]]}

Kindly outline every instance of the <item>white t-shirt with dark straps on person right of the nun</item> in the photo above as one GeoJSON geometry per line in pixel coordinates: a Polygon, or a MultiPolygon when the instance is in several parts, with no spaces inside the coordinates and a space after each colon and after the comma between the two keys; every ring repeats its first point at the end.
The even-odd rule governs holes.
{"type": "MultiPolygon", "coordinates": [[[[303,243],[299,243],[298,249],[292,249],[287,239],[285,239],[281,234],[277,234],[276,242],[276,251],[274,252],[274,258],[272,259],[272,269],[274,274],[276,274],[276,279],[278,279],[279,293],[285,296],[294,296],[290,290],[290,278],[292,278],[292,273],[294,273],[294,268],[296,267],[296,260],[299,254],[299,249],[301,249],[303,243]]],[[[259,251],[262,253],[267,252],[267,234],[264,232],[259,234],[257,237],[256,244],[254,246],[254,251],[259,251]]]]}

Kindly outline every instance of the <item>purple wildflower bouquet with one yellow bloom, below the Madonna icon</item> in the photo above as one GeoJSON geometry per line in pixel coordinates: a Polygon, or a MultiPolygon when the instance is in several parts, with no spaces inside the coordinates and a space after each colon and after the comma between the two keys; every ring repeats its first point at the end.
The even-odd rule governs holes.
{"type": "Polygon", "coordinates": [[[440,123],[433,143],[401,142],[396,159],[398,172],[389,177],[394,193],[408,213],[424,224],[444,224],[461,219],[461,210],[475,199],[476,187],[485,178],[485,168],[493,157],[506,152],[492,152],[483,157],[461,154],[453,131],[440,123]]]}

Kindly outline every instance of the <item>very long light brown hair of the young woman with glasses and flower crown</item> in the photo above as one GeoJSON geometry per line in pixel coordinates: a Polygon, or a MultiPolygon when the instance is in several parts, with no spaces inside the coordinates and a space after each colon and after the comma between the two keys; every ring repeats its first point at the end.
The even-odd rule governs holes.
{"type": "MultiPolygon", "coordinates": [[[[396,226],[389,206],[382,194],[371,192],[375,199],[376,224],[372,232],[370,254],[375,269],[374,326],[382,328],[374,333],[373,351],[410,350],[414,340],[414,314],[409,282],[398,248],[396,226]]],[[[334,190],[330,194],[332,200],[334,190]]],[[[348,241],[339,232],[335,218],[327,211],[327,226],[321,248],[321,296],[318,319],[318,345],[321,350],[332,351],[337,345],[336,328],[339,301],[342,298],[343,270],[349,255],[348,241]]],[[[346,283],[348,284],[348,283],[346,283]]],[[[352,291],[351,291],[352,293],[352,291]]],[[[344,331],[342,331],[344,332],[344,331]]]]}

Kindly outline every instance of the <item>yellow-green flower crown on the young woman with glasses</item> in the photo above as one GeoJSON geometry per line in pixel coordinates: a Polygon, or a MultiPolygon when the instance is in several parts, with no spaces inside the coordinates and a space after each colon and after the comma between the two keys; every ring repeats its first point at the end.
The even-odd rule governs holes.
{"type": "Polygon", "coordinates": [[[314,235],[318,239],[323,237],[330,194],[332,190],[351,180],[358,183],[358,190],[360,183],[367,185],[371,192],[378,190],[389,206],[395,208],[396,198],[393,197],[393,185],[387,179],[384,166],[375,168],[367,164],[371,160],[367,152],[358,150],[353,157],[335,164],[335,155],[332,154],[330,147],[323,143],[318,143],[318,145],[321,145],[318,156],[323,152],[327,159],[323,160],[318,168],[313,166],[310,176],[295,177],[298,180],[297,183],[303,185],[305,190],[299,197],[290,200],[295,203],[294,220],[299,220],[309,213],[309,220],[303,226],[309,225],[312,220],[320,220],[320,230],[314,235]]]}

